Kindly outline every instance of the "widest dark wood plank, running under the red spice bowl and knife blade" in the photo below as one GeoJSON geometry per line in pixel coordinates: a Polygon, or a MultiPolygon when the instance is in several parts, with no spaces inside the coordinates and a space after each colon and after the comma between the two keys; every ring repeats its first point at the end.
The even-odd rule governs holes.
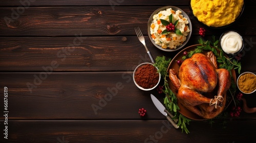
{"type": "MultiPolygon", "coordinates": [[[[10,119],[140,119],[138,109],[142,107],[147,109],[146,118],[164,118],[150,98],[153,93],[163,102],[164,94],[138,89],[132,74],[0,73],[0,92],[8,87],[10,119]]],[[[244,113],[241,117],[255,118],[255,114],[244,113]]]]}

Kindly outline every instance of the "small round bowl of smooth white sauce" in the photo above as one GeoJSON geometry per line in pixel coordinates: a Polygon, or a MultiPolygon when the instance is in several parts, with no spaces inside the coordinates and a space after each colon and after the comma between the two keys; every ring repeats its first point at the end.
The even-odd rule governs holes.
{"type": "Polygon", "coordinates": [[[234,31],[229,31],[221,37],[222,50],[227,54],[239,52],[243,46],[243,39],[240,34],[234,31]]]}

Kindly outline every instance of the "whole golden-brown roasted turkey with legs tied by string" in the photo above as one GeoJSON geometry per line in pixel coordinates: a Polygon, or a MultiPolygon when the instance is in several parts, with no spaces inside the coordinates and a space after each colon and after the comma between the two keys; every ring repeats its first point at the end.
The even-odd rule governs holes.
{"type": "Polygon", "coordinates": [[[227,69],[219,68],[215,55],[197,53],[183,61],[179,74],[169,69],[169,79],[177,99],[191,112],[209,119],[221,113],[231,79],[227,69]]]}

